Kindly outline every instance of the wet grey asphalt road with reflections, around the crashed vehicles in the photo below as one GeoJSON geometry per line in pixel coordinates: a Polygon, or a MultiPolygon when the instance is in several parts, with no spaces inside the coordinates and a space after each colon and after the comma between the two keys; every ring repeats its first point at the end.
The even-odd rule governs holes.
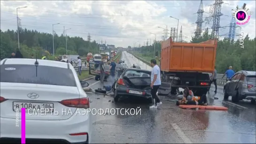
{"type": "MultiPolygon", "coordinates": [[[[151,68],[123,52],[127,65],[151,68]]],[[[90,88],[101,88],[94,79],[88,80],[90,88]]],[[[115,103],[112,96],[87,93],[90,108],[141,108],[141,115],[93,115],[92,143],[256,143],[256,105],[249,101],[233,104],[223,101],[223,87],[214,86],[208,93],[210,105],[226,106],[228,111],[187,110],[175,106],[175,99],[160,96],[163,104],[149,109],[143,99],[123,98],[115,103]],[[218,99],[214,99],[217,97],[218,99]]]]}

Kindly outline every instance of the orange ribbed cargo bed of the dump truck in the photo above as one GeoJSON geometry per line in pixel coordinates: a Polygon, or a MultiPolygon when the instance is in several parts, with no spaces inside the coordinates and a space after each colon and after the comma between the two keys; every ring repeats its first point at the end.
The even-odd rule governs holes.
{"type": "Polygon", "coordinates": [[[213,72],[217,40],[202,43],[162,42],[161,70],[165,72],[213,72]]]}

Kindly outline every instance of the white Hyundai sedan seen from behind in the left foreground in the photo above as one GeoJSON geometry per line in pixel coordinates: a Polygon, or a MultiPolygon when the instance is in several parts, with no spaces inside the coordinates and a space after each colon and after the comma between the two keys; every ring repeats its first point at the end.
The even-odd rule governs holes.
{"type": "Polygon", "coordinates": [[[90,143],[89,98],[83,90],[89,84],[79,81],[70,63],[4,59],[0,66],[0,143],[21,143],[24,136],[26,143],[90,143]]]}

